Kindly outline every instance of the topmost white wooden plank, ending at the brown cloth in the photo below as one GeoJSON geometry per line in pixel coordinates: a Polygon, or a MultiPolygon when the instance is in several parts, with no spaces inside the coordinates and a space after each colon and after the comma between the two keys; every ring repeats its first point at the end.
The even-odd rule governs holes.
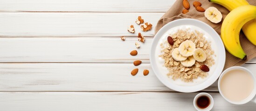
{"type": "Polygon", "coordinates": [[[175,0],[0,0],[1,11],[166,12],[175,0]]]}

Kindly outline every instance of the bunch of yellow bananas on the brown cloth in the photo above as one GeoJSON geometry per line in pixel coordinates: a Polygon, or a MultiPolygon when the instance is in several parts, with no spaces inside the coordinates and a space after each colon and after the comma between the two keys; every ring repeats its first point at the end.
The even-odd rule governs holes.
{"type": "Polygon", "coordinates": [[[239,33],[242,29],[248,40],[256,45],[256,6],[249,5],[246,0],[209,0],[220,4],[230,12],[221,25],[221,39],[228,52],[242,60],[246,60],[239,33]]]}

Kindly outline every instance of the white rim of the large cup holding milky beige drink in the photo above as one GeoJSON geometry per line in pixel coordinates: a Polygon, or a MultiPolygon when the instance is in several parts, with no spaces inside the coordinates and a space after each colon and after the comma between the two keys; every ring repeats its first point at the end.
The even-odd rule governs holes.
{"type": "Polygon", "coordinates": [[[241,66],[233,66],[233,67],[227,68],[226,70],[224,70],[224,71],[221,73],[221,76],[220,76],[219,81],[218,81],[218,89],[219,89],[219,92],[220,92],[221,96],[222,96],[226,101],[228,101],[229,103],[232,103],[232,104],[235,104],[235,105],[246,104],[246,103],[248,103],[250,100],[252,100],[252,99],[255,97],[255,95],[256,95],[256,78],[255,78],[254,74],[253,74],[251,71],[249,71],[249,69],[244,68],[244,67],[241,67],[241,66]],[[231,71],[231,70],[237,70],[237,69],[238,69],[238,70],[243,70],[243,71],[246,71],[247,73],[249,73],[249,74],[252,76],[253,81],[254,81],[254,89],[253,89],[253,91],[251,92],[251,94],[249,95],[249,97],[247,97],[246,99],[244,99],[244,100],[242,100],[242,101],[239,101],[239,102],[237,102],[237,101],[231,101],[231,100],[227,99],[227,98],[222,94],[221,88],[220,88],[220,82],[221,82],[221,79],[222,79],[223,75],[227,74],[227,72],[229,72],[229,71],[231,71]]]}

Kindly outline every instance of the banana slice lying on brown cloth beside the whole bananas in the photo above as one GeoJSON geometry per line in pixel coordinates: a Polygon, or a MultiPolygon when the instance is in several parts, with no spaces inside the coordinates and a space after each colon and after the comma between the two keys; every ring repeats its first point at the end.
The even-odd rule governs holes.
{"type": "Polygon", "coordinates": [[[216,24],[221,22],[221,19],[222,19],[221,12],[213,6],[211,6],[208,9],[205,10],[204,16],[208,20],[210,20],[211,22],[216,23],[216,24]]]}

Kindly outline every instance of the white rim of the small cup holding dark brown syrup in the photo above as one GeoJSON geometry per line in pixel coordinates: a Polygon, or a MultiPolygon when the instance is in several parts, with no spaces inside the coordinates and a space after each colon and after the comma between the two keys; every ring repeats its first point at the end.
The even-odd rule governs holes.
{"type": "Polygon", "coordinates": [[[193,104],[194,104],[194,108],[197,110],[197,111],[210,111],[213,106],[214,106],[214,99],[213,97],[209,94],[209,93],[199,93],[197,94],[195,97],[194,97],[194,101],[193,101],[193,104]],[[209,99],[210,99],[210,105],[205,108],[205,109],[201,109],[199,108],[197,105],[196,105],[196,100],[201,97],[201,96],[207,96],[209,99]]]}

